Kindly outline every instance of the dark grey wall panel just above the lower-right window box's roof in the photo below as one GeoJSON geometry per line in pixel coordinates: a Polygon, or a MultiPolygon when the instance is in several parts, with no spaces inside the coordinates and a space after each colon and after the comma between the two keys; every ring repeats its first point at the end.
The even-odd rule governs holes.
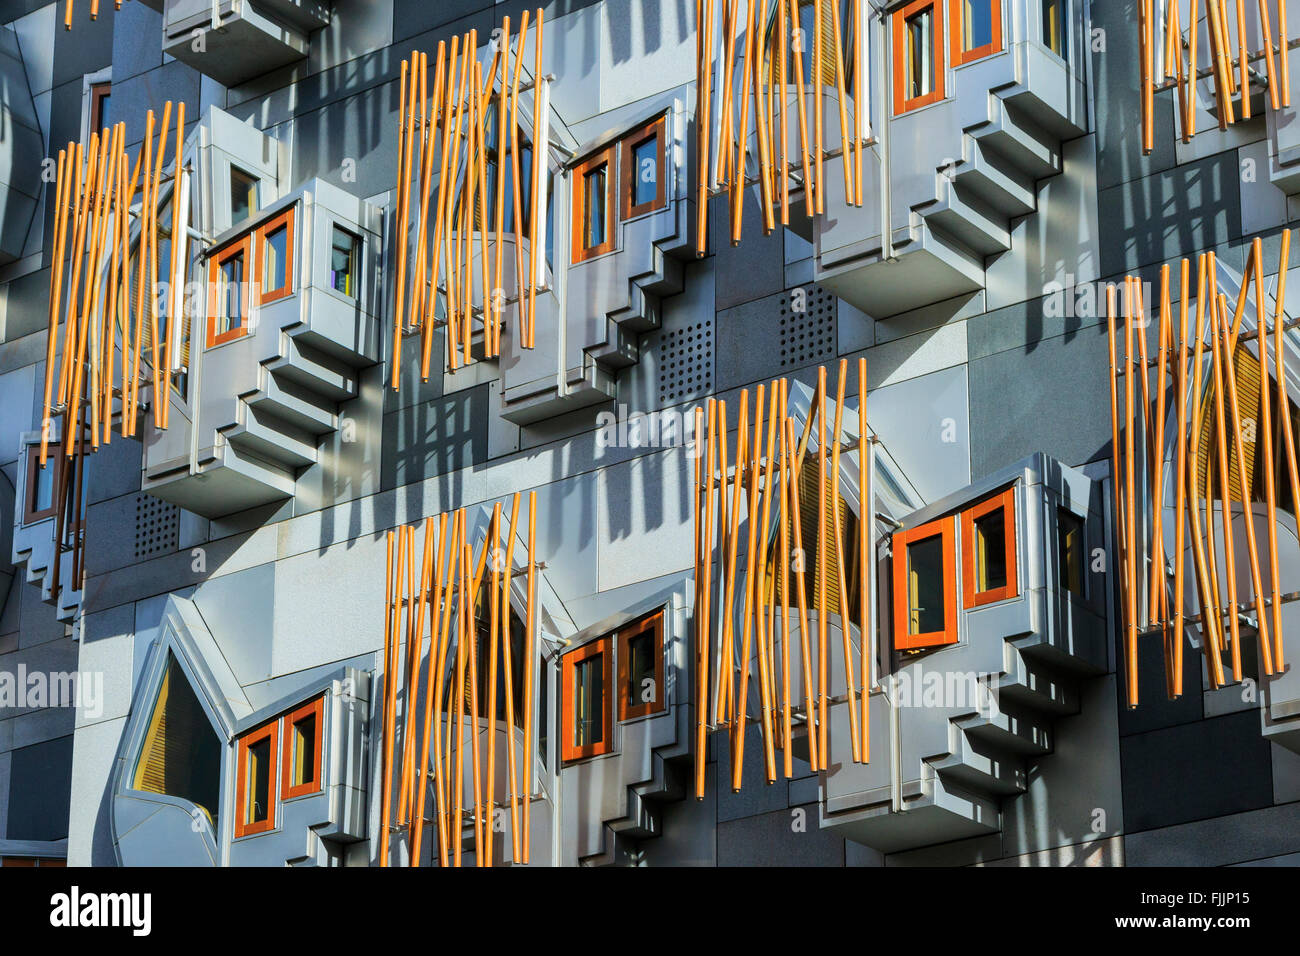
{"type": "Polygon", "coordinates": [[[1101,326],[970,363],[971,477],[1045,451],[1082,464],[1110,450],[1101,326]]]}

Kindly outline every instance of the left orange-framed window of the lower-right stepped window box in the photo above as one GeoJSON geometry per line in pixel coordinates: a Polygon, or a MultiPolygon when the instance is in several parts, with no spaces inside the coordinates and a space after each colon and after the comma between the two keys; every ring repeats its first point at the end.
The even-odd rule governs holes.
{"type": "Polygon", "coordinates": [[[957,559],[953,519],[893,536],[894,649],[957,643],[957,559]]]}

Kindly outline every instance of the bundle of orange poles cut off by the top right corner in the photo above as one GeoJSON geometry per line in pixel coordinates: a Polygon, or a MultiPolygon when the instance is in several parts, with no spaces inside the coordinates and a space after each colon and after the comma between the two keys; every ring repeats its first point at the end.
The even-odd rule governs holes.
{"type": "Polygon", "coordinates": [[[1180,0],[1138,0],[1138,36],[1140,55],[1140,114],[1143,152],[1156,146],[1156,88],[1167,88],[1173,82],[1178,90],[1178,112],[1183,129],[1183,142],[1190,143],[1196,134],[1196,85],[1205,77],[1214,87],[1214,104],[1219,129],[1236,122],[1238,112],[1232,99],[1240,96],[1240,118],[1251,118],[1251,81],[1262,82],[1269,90],[1273,109],[1291,105],[1291,33],[1287,29],[1287,0],[1257,0],[1258,26],[1262,48],[1249,49],[1247,38],[1247,0],[1235,0],[1231,13],[1227,0],[1190,0],[1188,30],[1184,36],[1179,21],[1180,0]],[[1271,3],[1278,5],[1277,38],[1274,46],[1274,14],[1271,3]],[[1205,5],[1204,14],[1201,4],[1205,5]],[[1205,21],[1209,38],[1208,62],[1200,62],[1200,22],[1205,21]],[[1160,36],[1164,25],[1164,36],[1160,36]],[[1157,77],[1156,44],[1160,43],[1164,75],[1157,77]]]}

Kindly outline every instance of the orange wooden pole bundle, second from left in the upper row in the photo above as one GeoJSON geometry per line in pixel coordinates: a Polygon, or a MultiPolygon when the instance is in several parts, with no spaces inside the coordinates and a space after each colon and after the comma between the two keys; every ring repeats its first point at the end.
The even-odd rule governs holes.
{"type": "Polygon", "coordinates": [[[506,306],[514,303],[519,345],[533,347],[541,242],[538,199],[545,186],[546,144],[533,144],[532,181],[521,182],[519,125],[520,92],[532,92],[533,117],[542,109],[542,10],[533,20],[533,75],[520,87],[529,12],[511,34],[510,17],[500,38],[493,39],[491,65],[478,60],[478,35],[471,30],[452,36],[448,48],[438,42],[433,82],[429,57],[412,53],[402,64],[398,146],[398,263],[393,321],[393,388],[402,367],[402,337],[421,336],[421,380],[429,378],[436,326],[436,303],[443,297],[447,326],[447,368],[471,362],[476,312],[482,326],[482,354],[500,355],[506,306]],[[514,53],[512,53],[514,51],[514,53]],[[432,98],[430,98],[432,86],[432,98]],[[495,116],[490,108],[495,100],[495,116]],[[489,124],[495,124],[495,215],[489,215],[489,124]],[[508,148],[507,148],[508,143],[508,148]],[[508,156],[508,159],[507,159],[508,156]],[[508,168],[507,168],[508,164],[508,168]],[[437,170],[436,170],[437,166],[437,170]],[[434,176],[437,174],[437,181],[434,176]],[[507,299],[502,286],[504,255],[506,182],[514,209],[516,294],[507,299]],[[430,199],[432,207],[430,207],[430,199]],[[521,220],[529,203],[528,256],[521,220]],[[493,229],[494,220],[495,229],[493,229]],[[412,228],[415,243],[411,243],[412,228]],[[478,268],[474,268],[474,233],[478,233],[478,268]],[[476,308],[474,300],[478,300],[476,308]]]}

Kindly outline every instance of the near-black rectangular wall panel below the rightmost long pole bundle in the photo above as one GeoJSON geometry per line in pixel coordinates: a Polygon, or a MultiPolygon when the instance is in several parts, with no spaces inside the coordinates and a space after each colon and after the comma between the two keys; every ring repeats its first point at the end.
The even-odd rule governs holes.
{"type": "Polygon", "coordinates": [[[1273,804],[1273,761],[1254,711],[1119,741],[1124,830],[1150,830],[1273,804]]]}

